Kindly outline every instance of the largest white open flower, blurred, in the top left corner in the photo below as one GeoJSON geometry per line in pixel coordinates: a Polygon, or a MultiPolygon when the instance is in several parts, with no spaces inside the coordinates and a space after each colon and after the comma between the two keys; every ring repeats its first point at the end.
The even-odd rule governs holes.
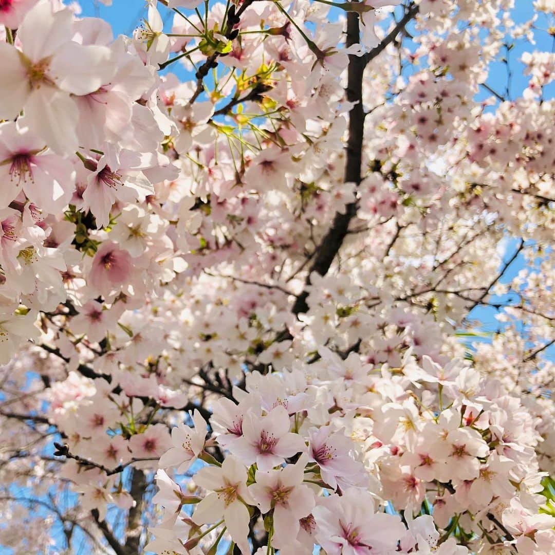
{"type": "Polygon", "coordinates": [[[49,148],[74,152],[78,110],[70,95],[89,94],[109,82],[110,50],[73,42],[73,12],[55,11],[48,0],[27,12],[17,37],[21,51],[0,42],[0,119],[24,109],[29,127],[49,148]]]}

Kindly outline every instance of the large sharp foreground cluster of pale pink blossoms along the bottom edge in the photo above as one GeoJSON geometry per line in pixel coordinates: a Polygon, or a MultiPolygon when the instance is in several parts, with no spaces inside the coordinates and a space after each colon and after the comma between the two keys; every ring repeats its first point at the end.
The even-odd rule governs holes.
{"type": "Polygon", "coordinates": [[[164,519],[147,548],[187,553],[212,531],[217,544],[226,528],[250,553],[256,511],[271,546],[299,555],[314,544],[336,554],[462,554],[478,551],[482,531],[497,547],[510,536],[519,553],[555,548],[555,518],[537,515],[545,498],[533,418],[499,382],[427,356],[376,372],[356,354],[320,355],[309,367],[250,374],[238,403],[213,403],[208,437],[198,412],[194,427],[173,428],[154,498],[164,519]],[[169,468],[190,478],[176,483],[169,468]],[[378,509],[386,499],[403,522],[378,509]],[[427,514],[413,519],[422,503],[427,514]]]}

